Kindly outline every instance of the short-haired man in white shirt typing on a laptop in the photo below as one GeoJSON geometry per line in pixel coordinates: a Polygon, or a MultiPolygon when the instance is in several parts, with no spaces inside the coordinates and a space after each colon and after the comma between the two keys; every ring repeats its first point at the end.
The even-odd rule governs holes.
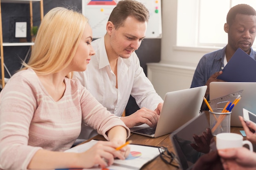
{"type": "MultiPolygon", "coordinates": [[[[110,14],[106,35],[92,42],[95,55],[86,71],[74,73],[74,77],[117,116],[121,117],[130,95],[135,98],[141,109],[121,117],[128,128],[144,123],[155,127],[163,105],[163,99],[155,92],[135,53],[145,38],[148,18],[149,11],[140,2],[119,1],[110,14]]],[[[79,139],[95,135],[96,131],[82,126],[79,139]]]]}

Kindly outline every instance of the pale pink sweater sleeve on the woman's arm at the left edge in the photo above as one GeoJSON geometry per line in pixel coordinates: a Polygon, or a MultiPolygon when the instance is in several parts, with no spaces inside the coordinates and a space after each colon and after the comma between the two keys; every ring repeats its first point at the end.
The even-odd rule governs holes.
{"type": "Polygon", "coordinates": [[[16,74],[0,93],[0,169],[27,170],[35,152],[41,149],[28,146],[29,126],[36,109],[28,84],[16,74]]]}

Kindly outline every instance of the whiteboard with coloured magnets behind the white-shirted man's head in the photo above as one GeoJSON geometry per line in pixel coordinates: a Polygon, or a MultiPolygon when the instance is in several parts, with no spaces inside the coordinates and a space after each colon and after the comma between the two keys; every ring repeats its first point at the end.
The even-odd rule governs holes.
{"type": "MultiPolygon", "coordinates": [[[[119,0],[82,0],[82,13],[89,19],[93,38],[106,34],[108,18],[119,0]]],[[[137,0],[149,11],[145,38],[162,38],[161,0],[137,0]]]]}

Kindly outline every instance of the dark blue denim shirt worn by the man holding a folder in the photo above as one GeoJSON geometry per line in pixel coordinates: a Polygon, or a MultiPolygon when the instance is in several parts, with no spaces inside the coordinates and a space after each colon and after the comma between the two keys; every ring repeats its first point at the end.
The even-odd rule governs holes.
{"type": "MultiPolygon", "coordinates": [[[[225,46],[223,49],[213,51],[205,54],[199,61],[198,66],[195,69],[191,87],[204,86],[207,80],[218,71],[222,71],[224,68],[225,46]]],[[[256,52],[251,47],[250,57],[256,60],[256,52]]]]}

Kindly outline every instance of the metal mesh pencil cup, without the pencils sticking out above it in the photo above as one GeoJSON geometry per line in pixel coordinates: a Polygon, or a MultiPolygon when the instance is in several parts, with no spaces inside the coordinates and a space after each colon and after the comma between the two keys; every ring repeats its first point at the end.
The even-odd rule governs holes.
{"type": "Polygon", "coordinates": [[[209,111],[210,127],[213,136],[219,133],[230,132],[230,112],[222,113],[223,109],[209,111]]]}

